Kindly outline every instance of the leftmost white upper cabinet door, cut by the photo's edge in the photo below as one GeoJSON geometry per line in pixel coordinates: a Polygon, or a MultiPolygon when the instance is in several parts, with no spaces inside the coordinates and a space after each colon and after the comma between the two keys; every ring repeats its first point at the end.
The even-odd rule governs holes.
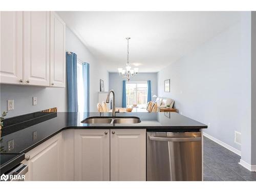
{"type": "Polygon", "coordinates": [[[0,12],[0,82],[23,83],[23,13],[0,12]]]}

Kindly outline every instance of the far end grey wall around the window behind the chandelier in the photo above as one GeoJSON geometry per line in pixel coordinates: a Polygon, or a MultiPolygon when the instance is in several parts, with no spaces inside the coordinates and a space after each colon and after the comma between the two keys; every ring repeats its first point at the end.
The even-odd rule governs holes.
{"type": "MultiPolygon", "coordinates": [[[[122,91],[124,78],[118,73],[109,73],[109,88],[115,91],[116,106],[122,106],[122,91]]],[[[130,81],[147,81],[151,80],[151,95],[157,95],[157,73],[139,73],[131,78],[130,81]]]]}

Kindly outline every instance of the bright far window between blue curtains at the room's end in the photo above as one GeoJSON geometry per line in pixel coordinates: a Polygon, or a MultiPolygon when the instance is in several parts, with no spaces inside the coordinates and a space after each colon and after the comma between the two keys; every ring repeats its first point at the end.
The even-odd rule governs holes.
{"type": "Polygon", "coordinates": [[[144,106],[147,103],[147,82],[126,82],[126,106],[137,104],[144,106]]]}

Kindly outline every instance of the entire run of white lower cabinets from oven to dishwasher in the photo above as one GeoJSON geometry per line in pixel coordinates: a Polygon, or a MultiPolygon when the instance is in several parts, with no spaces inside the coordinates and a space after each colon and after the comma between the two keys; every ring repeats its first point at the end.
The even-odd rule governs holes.
{"type": "Polygon", "coordinates": [[[26,181],[145,181],[145,129],[70,129],[25,154],[26,181]]]}

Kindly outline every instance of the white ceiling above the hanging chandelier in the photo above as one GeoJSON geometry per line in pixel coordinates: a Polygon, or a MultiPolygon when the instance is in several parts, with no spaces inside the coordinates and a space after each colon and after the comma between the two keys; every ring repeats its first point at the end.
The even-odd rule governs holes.
{"type": "Polygon", "coordinates": [[[57,12],[109,72],[130,63],[157,72],[237,23],[240,12],[57,12]]]}

